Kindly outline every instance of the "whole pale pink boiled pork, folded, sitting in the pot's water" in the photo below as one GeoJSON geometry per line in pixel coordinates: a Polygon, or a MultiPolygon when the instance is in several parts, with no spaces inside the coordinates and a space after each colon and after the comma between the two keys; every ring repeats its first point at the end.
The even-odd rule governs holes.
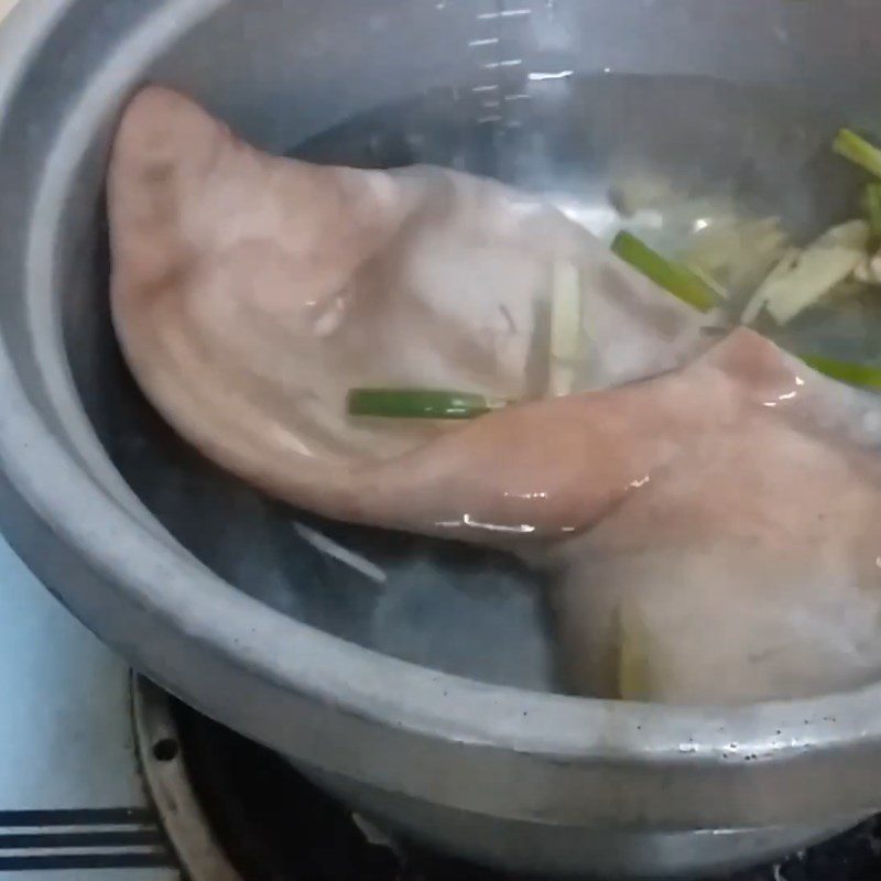
{"type": "Polygon", "coordinates": [[[109,214],[117,331],[166,420],[295,505],[561,565],[580,690],[725,703],[881,670],[874,401],[747,330],[703,352],[703,316],[554,208],[439,168],[270,156],[149,88],[109,214]],[[597,391],[541,400],[557,261],[581,274],[597,391]],[[352,387],[524,403],[354,420],[352,387]]]}

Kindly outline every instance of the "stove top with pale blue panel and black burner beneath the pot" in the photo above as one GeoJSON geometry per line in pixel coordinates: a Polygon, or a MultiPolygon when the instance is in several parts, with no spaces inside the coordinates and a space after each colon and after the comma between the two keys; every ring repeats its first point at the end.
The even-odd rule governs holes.
{"type": "MultiPolygon", "coordinates": [[[[2,539],[0,698],[0,881],[503,881],[392,841],[132,676],[2,539]]],[[[730,881],[879,878],[875,818],[730,881]]]]}

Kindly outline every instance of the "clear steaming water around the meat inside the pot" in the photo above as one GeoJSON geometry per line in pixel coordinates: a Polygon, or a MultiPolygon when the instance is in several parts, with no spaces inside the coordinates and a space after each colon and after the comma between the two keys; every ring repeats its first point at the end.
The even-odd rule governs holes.
{"type": "MultiPolygon", "coordinates": [[[[710,80],[605,76],[550,83],[516,126],[479,121],[468,89],[379,108],[293,151],[335,164],[435,163],[542,192],[597,235],[620,220],[610,186],[663,174],[683,198],[725,195],[809,237],[853,214],[858,178],[828,150],[835,120],[710,80]]],[[[881,300],[881,298],[879,298],[881,300]]],[[[874,354],[878,308],[805,315],[787,331],[831,355],[874,354]],[[874,327],[875,329],[872,329],[874,327]]],[[[194,555],[294,618],[360,645],[493,683],[556,689],[539,577],[424,537],[302,516],[220,474],[172,436],[124,376],[102,434],[117,466],[194,555]]]]}

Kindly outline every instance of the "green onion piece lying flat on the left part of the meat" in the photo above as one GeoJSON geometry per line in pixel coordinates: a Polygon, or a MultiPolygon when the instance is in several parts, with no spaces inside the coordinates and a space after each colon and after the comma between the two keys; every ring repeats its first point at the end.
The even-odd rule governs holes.
{"type": "Polygon", "coordinates": [[[470,420],[505,406],[507,401],[471,392],[434,389],[352,389],[348,395],[350,416],[399,420],[470,420]]]}

